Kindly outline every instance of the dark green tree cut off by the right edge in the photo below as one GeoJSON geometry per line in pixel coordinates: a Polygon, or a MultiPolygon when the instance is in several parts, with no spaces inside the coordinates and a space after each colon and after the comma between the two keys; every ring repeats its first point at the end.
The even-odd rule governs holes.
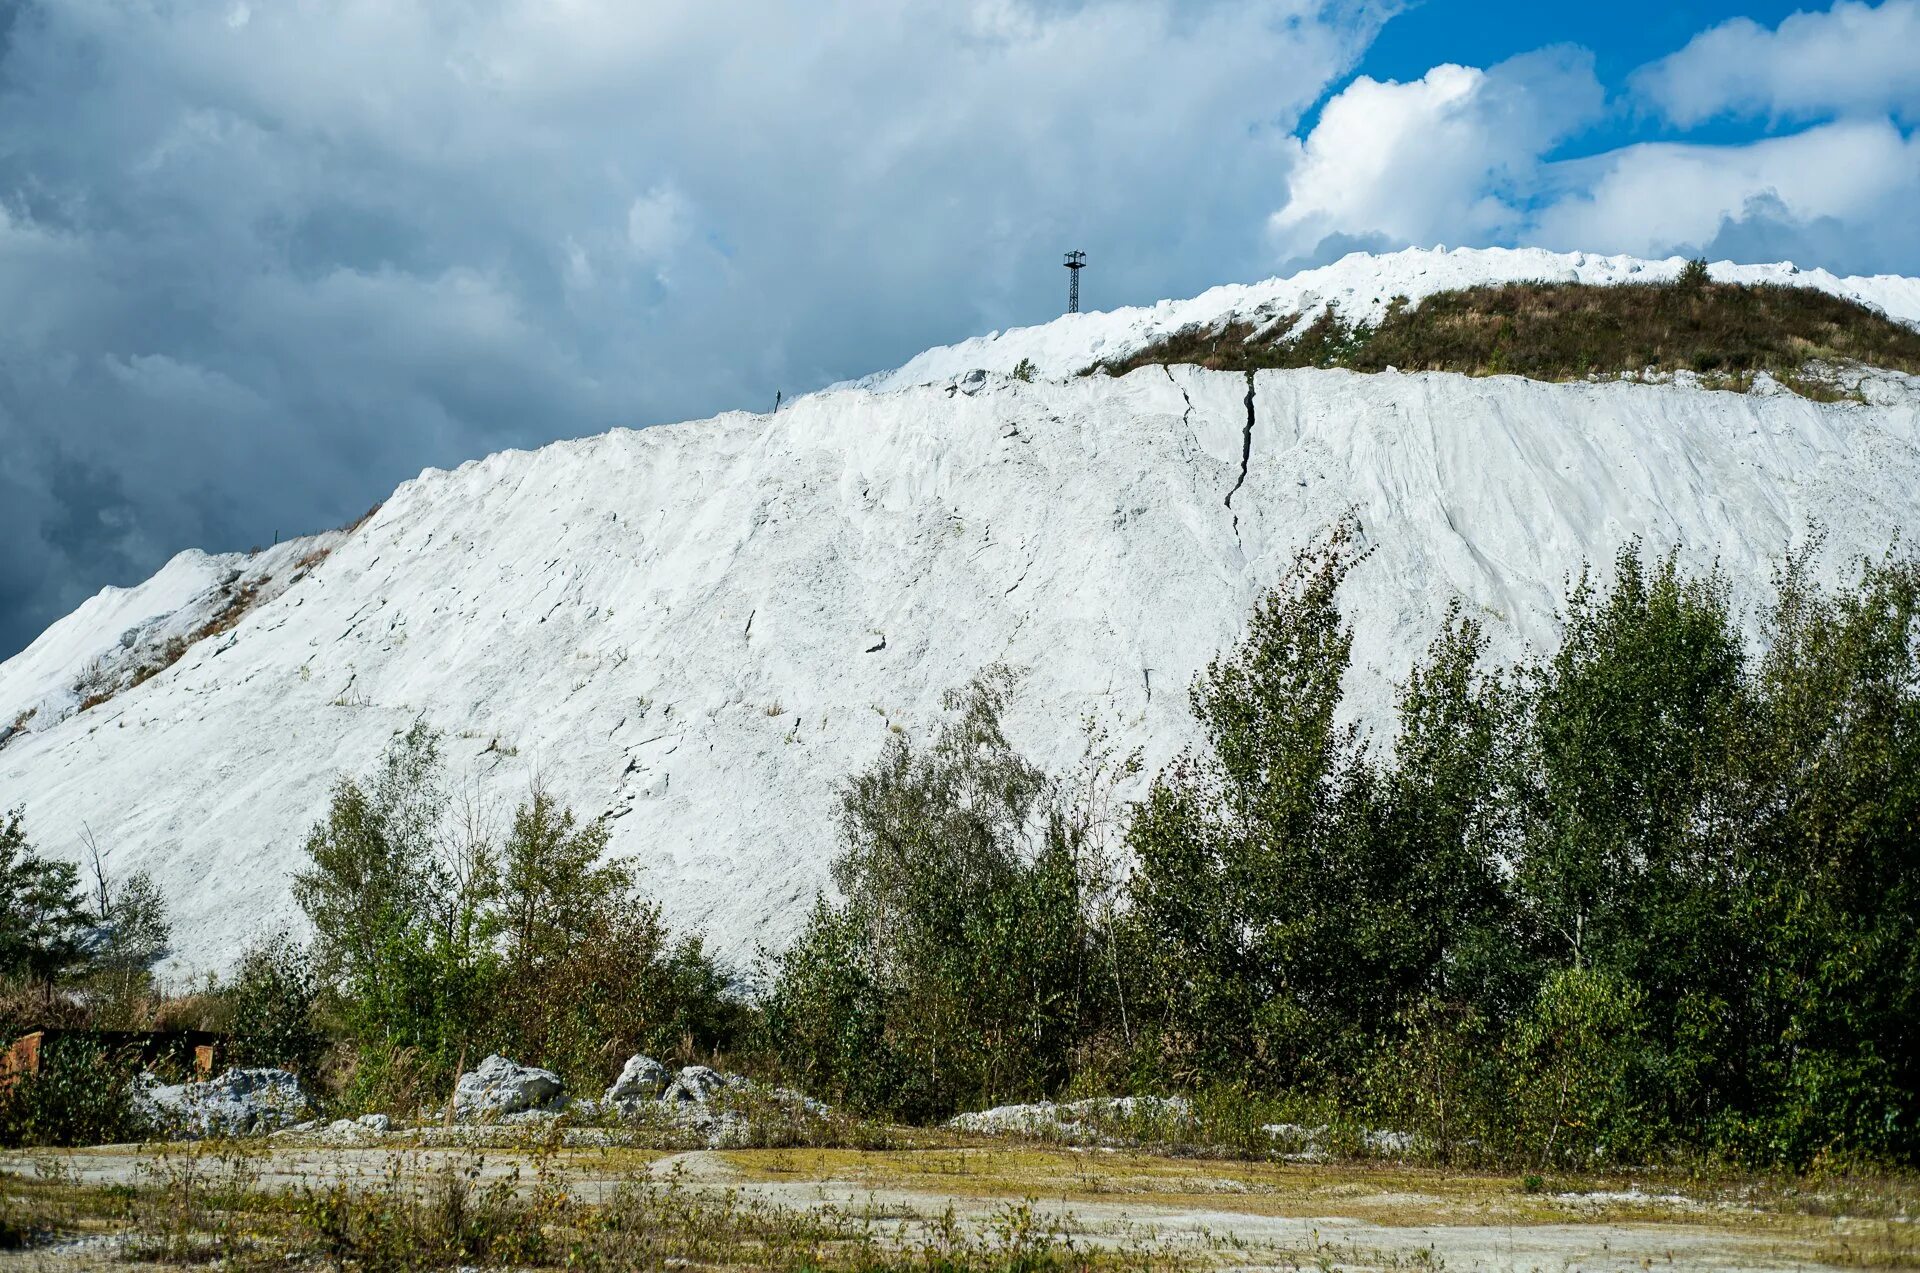
{"type": "Polygon", "coordinates": [[[1759,933],[1757,1158],[1920,1152],[1920,559],[1816,580],[1788,561],[1749,745],[1761,854],[1743,889],[1759,933]]]}

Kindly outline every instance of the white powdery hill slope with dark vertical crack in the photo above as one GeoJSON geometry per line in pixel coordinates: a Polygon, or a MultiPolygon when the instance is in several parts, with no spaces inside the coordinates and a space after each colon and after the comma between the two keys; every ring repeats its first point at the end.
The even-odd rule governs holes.
{"type": "MultiPolygon", "coordinates": [[[[1064,376],[1196,319],[1338,288],[1672,267],[1350,257],[1306,284],[929,351],[772,417],[428,470],[353,532],[182,555],[0,664],[0,730],[36,709],[0,745],[0,805],[25,803],[48,851],[77,853],[84,822],[115,870],[154,872],[177,966],[217,968],[294,918],[286,876],[336,776],[424,714],[501,803],[538,774],[611,814],[668,916],[747,956],[826,883],[833,783],[889,730],[933,722],[943,689],[993,661],[1025,666],[1012,728],[1037,758],[1071,764],[1092,714],[1156,766],[1190,737],[1194,670],[1350,507],[1375,547],[1348,595],[1367,720],[1452,599],[1517,653],[1551,637],[1569,572],[1628,536],[1720,559],[1751,603],[1814,520],[1836,564],[1920,524],[1920,380],[1891,372],[1864,384],[1870,405],[1342,371],[1261,372],[1252,409],[1244,376],[1196,369],[916,380],[1021,357],[1064,376]],[[127,685],[250,588],[230,630],[73,710],[96,661],[96,685],[127,685]]],[[[1914,280],[1809,278],[1920,319],[1914,280]]]]}

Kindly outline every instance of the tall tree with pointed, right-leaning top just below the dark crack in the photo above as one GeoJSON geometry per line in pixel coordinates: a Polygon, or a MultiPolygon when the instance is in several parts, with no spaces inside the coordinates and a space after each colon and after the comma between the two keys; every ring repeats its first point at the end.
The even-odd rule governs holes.
{"type": "MultiPolygon", "coordinates": [[[[1192,687],[1204,745],[1154,781],[1129,829],[1146,995],[1173,1077],[1296,1083],[1361,1045],[1377,937],[1377,791],[1336,720],[1354,634],[1336,605],[1357,524],[1302,551],[1242,641],[1192,687]]],[[[1379,1006],[1379,1004],[1375,1004],[1379,1006]]]]}

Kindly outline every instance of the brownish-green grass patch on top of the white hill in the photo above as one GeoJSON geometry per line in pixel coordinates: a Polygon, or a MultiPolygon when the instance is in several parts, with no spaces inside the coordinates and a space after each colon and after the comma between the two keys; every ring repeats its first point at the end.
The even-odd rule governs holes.
{"type": "Polygon", "coordinates": [[[1822,367],[1866,365],[1920,372],[1920,332],[1812,288],[1707,282],[1592,286],[1513,282],[1396,303],[1379,326],[1334,311],[1177,332],[1139,353],[1096,365],[1198,363],[1215,371],[1346,367],[1455,371],[1534,380],[1688,371],[1716,388],[1745,390],[1768,372],[1812,397],[1847,392],[1822,367]]]}

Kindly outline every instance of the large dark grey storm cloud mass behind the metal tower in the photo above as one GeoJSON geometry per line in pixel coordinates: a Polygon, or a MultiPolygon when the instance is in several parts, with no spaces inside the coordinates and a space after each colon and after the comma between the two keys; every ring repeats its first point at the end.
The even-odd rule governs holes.
{"type": "Polygon", "coordinates": [[[1363,6],[0,6],[0,657],[424,465],[1252,275],[1363,6]]]}

